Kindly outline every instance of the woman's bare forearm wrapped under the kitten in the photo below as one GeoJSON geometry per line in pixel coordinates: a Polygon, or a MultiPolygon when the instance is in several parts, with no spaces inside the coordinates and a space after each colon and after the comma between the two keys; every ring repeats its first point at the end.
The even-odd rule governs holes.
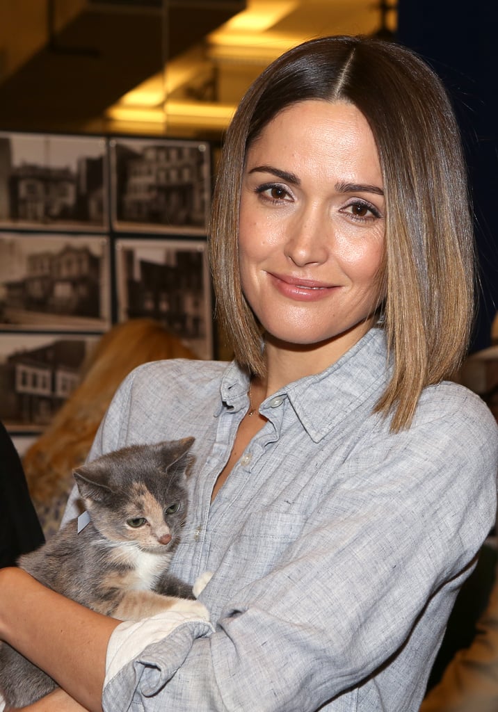
{"type": "Polygon", "coordinates": [[[0,570],[0,639],[90,712],[102,709],[105,653],[119,624],[42,586],[21,569],[0,570]]]}

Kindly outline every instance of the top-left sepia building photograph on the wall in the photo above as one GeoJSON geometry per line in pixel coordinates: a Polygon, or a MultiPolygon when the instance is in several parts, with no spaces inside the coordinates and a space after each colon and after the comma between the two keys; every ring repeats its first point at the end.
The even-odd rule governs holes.
{"type": "Polygon", "coordinates": [[[0,132],[0,226],[105,231],[104,137],[0,132]]]}

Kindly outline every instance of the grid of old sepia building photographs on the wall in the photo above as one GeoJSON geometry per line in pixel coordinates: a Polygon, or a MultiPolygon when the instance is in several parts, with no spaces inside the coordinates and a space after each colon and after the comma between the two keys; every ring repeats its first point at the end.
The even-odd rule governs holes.
{"type": "Polygon", "coordinates": [[[113,323],[150,317],[214,356],[211,146],[0,132],[0,420],[50,422],[113,323]]]}

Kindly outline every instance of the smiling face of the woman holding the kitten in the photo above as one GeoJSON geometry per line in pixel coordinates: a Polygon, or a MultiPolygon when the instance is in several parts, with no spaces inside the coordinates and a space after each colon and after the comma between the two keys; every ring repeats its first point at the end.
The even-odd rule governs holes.
{"type": "Polygon", "coordinates": [[[239,214],[242,289],[267,337],[346,352],[373,321],[384,231],[363,114],[307,100],[276,115],[247,152],[239,214]]]}

